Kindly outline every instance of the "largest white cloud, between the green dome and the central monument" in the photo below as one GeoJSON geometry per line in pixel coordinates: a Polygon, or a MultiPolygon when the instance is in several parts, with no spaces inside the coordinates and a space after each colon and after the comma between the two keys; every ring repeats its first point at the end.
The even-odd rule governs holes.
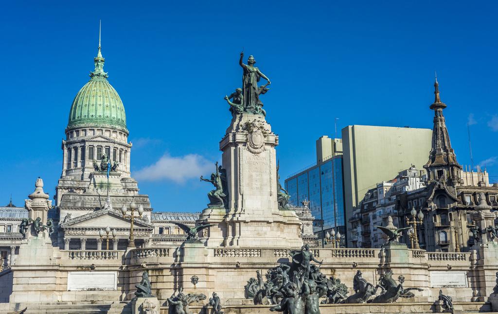
{"type": "Polygon", "coordinates": [[[178,157],[165,154],[154,164],[133,172],[133,177],[140,181],[170,180],[184,183],[188,179],[206,175],[213,169],[213,163],[197,154],[178,157]]]}

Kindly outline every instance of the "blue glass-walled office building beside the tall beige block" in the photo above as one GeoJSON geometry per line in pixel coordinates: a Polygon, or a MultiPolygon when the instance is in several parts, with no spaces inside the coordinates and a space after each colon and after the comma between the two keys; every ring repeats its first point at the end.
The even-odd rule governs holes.
{"type": "Polygon", "coordinates": [[[310,202],[309,208],[315,217],[313,231],[319,238],[332,229],[346,234],[343,187],[343,155],[338,153],[318,160],[317,164],[285,180],[291,205],[310,202]]]}

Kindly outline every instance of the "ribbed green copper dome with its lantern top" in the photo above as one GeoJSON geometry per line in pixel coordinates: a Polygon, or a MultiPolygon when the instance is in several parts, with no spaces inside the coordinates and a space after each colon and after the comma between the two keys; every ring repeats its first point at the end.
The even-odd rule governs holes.
{"type": "Polygon", "coordinates": [[[90,81],[76,94],[67,127],[91,125],[111,126],[126,129],[124,105],[116,90],[107,81],[101,47],[94,59],[95,70],[90,73],[90,81]]]}

